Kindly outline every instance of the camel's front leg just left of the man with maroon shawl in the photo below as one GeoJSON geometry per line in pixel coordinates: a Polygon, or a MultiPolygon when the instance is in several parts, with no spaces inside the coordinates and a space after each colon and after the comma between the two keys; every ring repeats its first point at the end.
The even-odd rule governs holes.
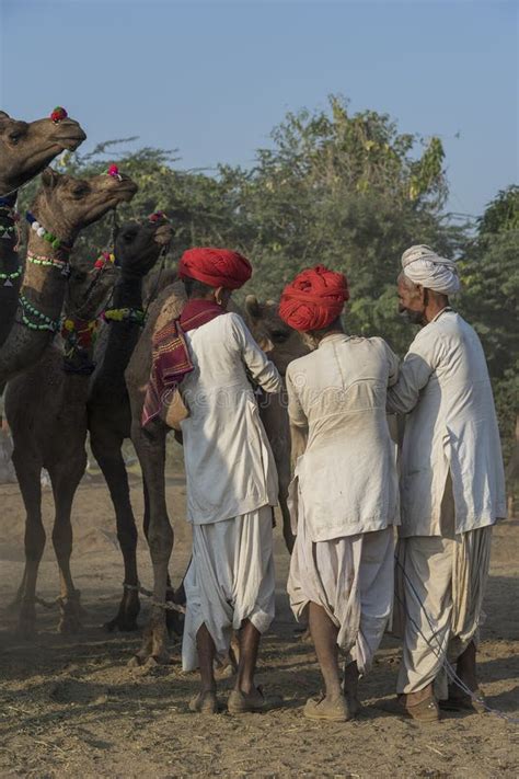
{"type": "Polygon", "coordinates": [[[134,416],[131,439],[142,469],[148,490],[148,545],[153,565],[153,606],[150,621],[145,630],[142,646],[137,654],[139,662],[153,658],[168,663],[165,604],[168,595],[168,565],[173,550],[173,528],[165,504],[165,436],[166,428],[155,423],[153,429],[145,433],[140,426],[140,409],[134,416]]]}

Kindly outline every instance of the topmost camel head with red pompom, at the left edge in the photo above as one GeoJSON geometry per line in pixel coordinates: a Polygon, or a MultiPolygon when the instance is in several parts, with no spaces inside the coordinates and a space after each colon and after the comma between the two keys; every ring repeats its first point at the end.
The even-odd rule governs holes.
{"type": "Polygon", "coordinates": [[[0,197],[34,179],[65,149],[74,151],[85,138],[68,116],[22,122],[0,111],[0,197]]]}

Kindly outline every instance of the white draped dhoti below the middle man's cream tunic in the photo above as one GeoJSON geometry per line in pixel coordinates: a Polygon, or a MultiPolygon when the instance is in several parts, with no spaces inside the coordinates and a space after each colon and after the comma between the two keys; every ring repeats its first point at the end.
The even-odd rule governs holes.
{"type": "Polygon", "coordinates": [[[338,628],[337,645],[359,673],[373,654],[391,616],[393,528],[312,541],[300,514],[290,561],[288,595],[299,620],[310,602],[338,628]]]}

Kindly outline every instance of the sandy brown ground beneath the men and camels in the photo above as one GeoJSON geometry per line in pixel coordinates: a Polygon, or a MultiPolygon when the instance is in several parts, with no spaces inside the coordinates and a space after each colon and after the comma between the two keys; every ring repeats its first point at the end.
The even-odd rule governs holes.
{"type": "MultiPolygon", "coordinates": [[[[141,515],[140,482],[132,497],[141,515]]],[[[177,581],[189,555],[181,479],[168,486],[175,525],[172,571],[177,581]]],[[[86,609],[78,635],[56,632],[57,612],[38,607],[32,642],[14,634],[7,606],[23,570],[23,509],[15,484],[0,486],[0,776],[1,777],[517,777],[519,728],[496,715],[450,715],[419,725],[380,708],[393,696],[397,643],[384,639],[372,674],[361,684],[358,721],[312,723],[302,717],[307,698],[320,690],[312,648],[295,638],[284,592],[288,557],[276,530],[277,618],[263,643],[258,680],[281,692],[286,706],[264,715],[201,718],[187,710],[195,675],[182,674],[178,645],[172,664],[143,673],[128,660],[139,634],[107,634],[100,627],[116,611],[122,564],[109,499],[100,478],[86,478],[73,511],[76,584],[86,609]]],[[[51,494],[44,491],[50,529],[51,494]]],[[[50,532],[48,532],[48,538],[50,532]]],[[[480,653],[488,702],[519,717],[519,523],[495,532],[480,653]]],[[[151,584],[148,551],[139,548],[140,576],[151,584]]],[[[58,593],[48,543],[38,593],[58,593]]],[[[147,618],[142,604],[141,623],[147,618]]],[[[220,688],[222,701],[226,686],[220,688]]]]}

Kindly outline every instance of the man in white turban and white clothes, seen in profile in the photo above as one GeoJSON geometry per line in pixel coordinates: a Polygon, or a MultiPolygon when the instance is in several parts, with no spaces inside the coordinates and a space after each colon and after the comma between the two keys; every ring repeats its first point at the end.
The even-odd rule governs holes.
{"type": "Polygon", "coordinates": [[[492,526],[506,516],[485,355],[474,330],[449,306],[459,288],[452,260],[425,245],[402,255],[399,308],[422,330],[388,390],[388,410],[407,414],[393,628],[404,640],[401,709],[430,721],[439,719],[437,700],[451,710],[483,709],[477,629],[492,526]],[[447,660],[457,663],[464,691],[448,688],[447,660]]]}

